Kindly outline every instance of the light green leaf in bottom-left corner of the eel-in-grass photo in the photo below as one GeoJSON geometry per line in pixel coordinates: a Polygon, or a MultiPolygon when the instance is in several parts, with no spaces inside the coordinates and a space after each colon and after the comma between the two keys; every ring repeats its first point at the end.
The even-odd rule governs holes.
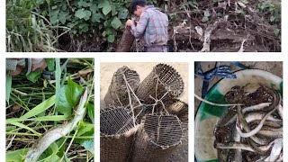
{"type": "Polygon", "coordinates": [[[25,155],[29,151],[29,148],[22,148],[14,151],[6,152],[6,162],[23,162],[25,155]]]}

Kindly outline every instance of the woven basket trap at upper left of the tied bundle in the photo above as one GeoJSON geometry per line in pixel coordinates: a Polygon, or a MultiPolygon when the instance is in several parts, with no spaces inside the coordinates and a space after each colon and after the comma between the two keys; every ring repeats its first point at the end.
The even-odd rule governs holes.
{"type": "Polygon", "coordinates": [[[129,103],[128,91],[126,82],[124,79],[126,77],[131,89],[134,91],[139,85],[139,74],[130,70],[129,67],[119,68],[112,76],[111,85],[108,88],[107,94],[104,97],[106,105],[113,106],[124,106],[129,103]]]}

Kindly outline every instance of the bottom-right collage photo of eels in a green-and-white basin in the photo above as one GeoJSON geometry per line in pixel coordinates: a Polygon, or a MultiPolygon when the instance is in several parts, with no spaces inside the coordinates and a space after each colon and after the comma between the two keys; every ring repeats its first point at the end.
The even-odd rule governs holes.
{"type": "Polygon", "coordinates": [[[283,161],[283,62],[195,62],[198,162],[283,161]]]}

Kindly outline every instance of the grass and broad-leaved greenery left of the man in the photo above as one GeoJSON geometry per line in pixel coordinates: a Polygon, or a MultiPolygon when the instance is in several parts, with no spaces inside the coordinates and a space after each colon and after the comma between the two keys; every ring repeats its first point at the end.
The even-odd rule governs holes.
{"type": "Polygon", "coordinates": [[[6,50],[115,50],[130,18],[129,4],[130,0],[7,0],[6,50]]]}

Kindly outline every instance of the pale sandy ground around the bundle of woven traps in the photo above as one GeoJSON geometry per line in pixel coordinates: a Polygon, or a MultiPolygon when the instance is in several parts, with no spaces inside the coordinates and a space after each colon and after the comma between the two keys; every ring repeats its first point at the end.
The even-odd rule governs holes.
{"type": "MultiPolygon", "coordinates": [[[[143,81],[146,76],[152,71],[158,63],[101,63],[100,67],[100,98],[101,108],[105,106],[103,98],[111,83],[112,75],[122,66],[130,67],[139,73],[140,81],[143,81]]],[[[184,103],[188,103],[188,64],[187,63],[166,63],[172,67],[182,76],[184,80],[184,93],[178,99],[184,103]]],[[[169,161],[187,162],[188,161],[188,131],[185,132],[182,145],[175,149],[172,155],[169,155],[169,161]]]]}

